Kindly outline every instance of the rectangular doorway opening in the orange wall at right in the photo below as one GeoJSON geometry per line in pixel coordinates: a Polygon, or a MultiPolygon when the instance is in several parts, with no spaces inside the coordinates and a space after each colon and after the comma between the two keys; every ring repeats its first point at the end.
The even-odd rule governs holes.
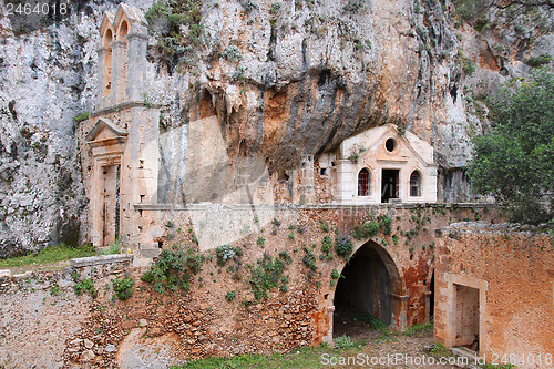
{"type": "Polygon", "coordinates": [[[479,289],[462,285],[455,288],[454,346],[479,352],[479,289]]]}

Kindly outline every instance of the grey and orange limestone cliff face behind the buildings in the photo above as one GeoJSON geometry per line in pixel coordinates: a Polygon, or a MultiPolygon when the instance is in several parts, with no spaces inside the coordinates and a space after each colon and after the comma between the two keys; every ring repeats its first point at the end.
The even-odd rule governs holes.
{"type": "MultiPolygon", "coordinates": [[[[45,25],[0,19],[0,256],[83,235],[74,117],[94,109],[98,28],[117,2],[79,1],[45,25]]],[[[165,106],[162,131],[216,114],[228,155],[261,157],[270,172],[396,123],[430,142],[447,173],[464,165],[470,136],[482,130],[486,107],[471,92],[529,73],[522,62],[554,45],[551,24],[521,34],[495,14],[494,28],[476,32],[454,24],[453,9],[448,1],[205,1],[199,44],[175,39],[174,55],[187,50],[178,65],[156,47],[164,20],[153,24],[144,99],[165,106]]]]}

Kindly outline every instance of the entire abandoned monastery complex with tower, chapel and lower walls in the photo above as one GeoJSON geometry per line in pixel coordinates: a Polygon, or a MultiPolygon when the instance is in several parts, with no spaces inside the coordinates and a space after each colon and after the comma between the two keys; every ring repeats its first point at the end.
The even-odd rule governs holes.
{"type": "MultiPolygon", "coordinates": [[[[437,342],[480,356],[554,353],[551,236],[505,224],[492,201],[472,194],[463,165],[435,145],[437,132],[384,117],[345,129],[339,141],[330,134],[326,150],[295,148],[295,132],[309,127],[275,123],[285,120],[281,106],[295,104],[293,86],[266,89],[261,117],[240,116],[249,127],[232,100],[254,106],[253,91],[234,86],[232,99],[223,88],[195,88],[177,124],[148,98],[152,29],[138,7],[113,6],[95,24],[95,100],[75,125],[85,205],[74,228],[83,243],[120,243],[123,254],[0,277],[0,368],[141,368],[286,351],[332,344],[337,321],[353,312],[399,330],[434,321],[437,342]],[[275,152],[249,151],[276,136],[275,152]],[[178,288],[147,274],[166,257],[183,258],[178,288]],[[269,269],[277,277],[259,287],[256,273],[269,269]],[[115,299],[110,284],[124,277],[134,293],[115,299]],[[85,278],[94,294],[69,293],[85,278]],[[52,286],[68,293],[54,297],[52,286]]],[[[206,84],[218,75],[211,73],[206,84]]],[[[339,83],[328,69],[309,73],[301,89],[322,100],[339,83]]],[[[337,91],[339,101],[346,92],[337,91]]]]}

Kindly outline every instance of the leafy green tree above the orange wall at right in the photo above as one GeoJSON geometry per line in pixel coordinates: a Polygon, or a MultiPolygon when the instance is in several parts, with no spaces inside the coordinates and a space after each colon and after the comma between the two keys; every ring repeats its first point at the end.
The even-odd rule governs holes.
{"type": "Polygon", "coordinates": [[[553,215],[554,75],[540,71],[491,100],[493,127],[474,140],[474,191],[507,206],[511,221],[538,224],[553,215]]]}

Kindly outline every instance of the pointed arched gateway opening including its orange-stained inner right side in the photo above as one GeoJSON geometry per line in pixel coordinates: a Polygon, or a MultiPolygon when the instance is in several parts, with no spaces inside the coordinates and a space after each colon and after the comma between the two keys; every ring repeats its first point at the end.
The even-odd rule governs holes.
{"type": "Polygon", "coordinates": [[[356,314],[371,314],[394,328],[406,328],[408,296],[389,253],[369,240],[345,265],[335,289],[335,336],[356,314]],[[339,326],[340,325],[340,326],[339,326]]]}

